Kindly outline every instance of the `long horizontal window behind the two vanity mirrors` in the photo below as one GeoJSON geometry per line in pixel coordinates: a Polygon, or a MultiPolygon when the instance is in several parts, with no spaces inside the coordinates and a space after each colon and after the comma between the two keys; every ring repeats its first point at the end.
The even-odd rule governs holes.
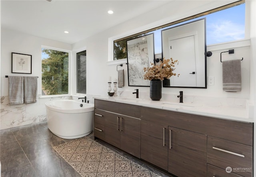
{"type": "Polygon", "coordinates": [[[184,18],[170,24],[124,37],[114,41],[114,60],[127,58],[127,41],[154,33],[154,53],[162,53],[161,30],[173,28],[184,23],[206,18],[206,45],[244,39],[245,2],[244,0],[184,18]]]}

